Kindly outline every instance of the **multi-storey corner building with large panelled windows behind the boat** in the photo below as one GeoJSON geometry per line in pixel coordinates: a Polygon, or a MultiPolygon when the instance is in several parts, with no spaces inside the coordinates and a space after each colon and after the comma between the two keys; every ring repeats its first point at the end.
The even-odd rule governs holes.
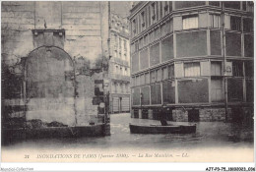
{"type": "Polygon", "coordinates": [[[132,117],[239,121],[253,116],[253,3],[139,2],[131,9],[132,117]],[[226,57],[227,116],[224,106],[226,57]]]}

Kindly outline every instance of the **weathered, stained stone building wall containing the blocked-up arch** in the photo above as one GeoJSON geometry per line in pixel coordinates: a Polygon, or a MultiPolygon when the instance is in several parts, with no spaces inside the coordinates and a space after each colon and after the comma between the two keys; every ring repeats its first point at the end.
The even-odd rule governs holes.
{"type": "Polygon", "coordinates": [[[2,121],[102,123],[108,3],[1,3],[2,121]]]}

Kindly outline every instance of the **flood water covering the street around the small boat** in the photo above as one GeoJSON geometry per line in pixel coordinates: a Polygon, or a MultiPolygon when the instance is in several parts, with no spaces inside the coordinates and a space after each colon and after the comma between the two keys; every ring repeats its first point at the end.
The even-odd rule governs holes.
{"type": "MultiPolygon", "coordinates": [[[[43,149],[65,148],[198,148],[198,147],[250,147],[253,148],[253,129],[241,124],[224,122],[198,122],[195,134],[130,134],[129,123],[160,124],[160,121],[133,119],[130,114],[112,114],[110,117],[111,136],[79,139],[41,139],[19,141],[5,145],[5,149],[23,149],[33,147],[43,149]]],[[[186,122],[172,122],[188,124],[186,122]]],[[[192,123],[195,124],[195,123],[192,123]]]]}

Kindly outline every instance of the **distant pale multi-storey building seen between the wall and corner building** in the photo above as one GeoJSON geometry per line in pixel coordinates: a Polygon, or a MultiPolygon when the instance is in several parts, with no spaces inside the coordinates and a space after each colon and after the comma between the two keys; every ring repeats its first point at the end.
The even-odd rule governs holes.
{"type": "Polygon", "coordinates": [[[130,111],[130,41],[128,20],[111,14],[109,60],[110,112],[130,111]]]}

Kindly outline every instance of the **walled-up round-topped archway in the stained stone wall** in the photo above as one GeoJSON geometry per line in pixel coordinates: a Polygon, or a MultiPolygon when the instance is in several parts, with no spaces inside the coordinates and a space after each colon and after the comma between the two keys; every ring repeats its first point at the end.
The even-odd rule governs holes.
{"type": "Polygon", "coordinates": [[[26,60],[25,79],[27,120],[76,124],[74,65],[63,49],[34,49],[26,60]]]}

